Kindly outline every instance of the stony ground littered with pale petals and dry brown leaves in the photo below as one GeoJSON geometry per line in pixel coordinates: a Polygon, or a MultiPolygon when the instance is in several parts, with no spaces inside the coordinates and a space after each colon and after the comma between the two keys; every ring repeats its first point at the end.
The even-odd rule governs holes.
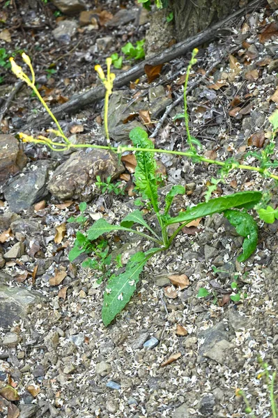
{"type": "MultiPolygon", "coordinates": [[[[21,86],[5,109],[17,79],[1,48],[23,68],[20,52],[31,57],[38,89],[53,109],[99,85],[94,66],[105,68],[107,56],[123,55],[127,42],[146,36],[150,16],[140,13],[134,1],[96,3],[86,2],[91,15],[88,10],[87,15],[80,15],[82,10],[65,15],[47,1],[0,1],[3,141],[43,108],[21,86]]],[[[151,31],[147,36],[151,45],[151,31]]],[[[195,86],[188,97],[192,135],[212,160],[233,157],[257,165],[254,155],[244,155],[260,153],[268,144],[268,117],[277,109],[277,12],[269,6],[256,10],[199,49],[189,83],[195,86]]],[[[114,92],[112,145],[130,144],[130,122],[153,133],[166,107],[183,94],[189,58],[165,64],[153,82],[144,75],[114,92]],[[116,112],[120,102],[125,124],[116,112]]],[[[113,70],[118,74],[134,63],[124,58],[123,68],[113,70]]],[[[72,140],[104,145],[102,107],[100,100],[59,122],[68,136],[75,135],[72,140]]],[[[155,135],[156,148],[187,150],[184,123],[173,121],[180,111],[182,101],[155,135]]],[[[48,128],[24,132],[48,136],[48,128]]],[[[138,208],[132,192],[134,160],[123,161],[125,171],[117,179],[123,194],[102,194],[92,186],[90,199],[72,191],[59,199],[47,185],[72,155],[42,145],[21,147],[26,157],[20,154],[20,171],[3,181],[0,191],[0,417],[249,417],[242,397],[235,396],[238,388],[245,391],[254,417],[275,417],[265,380],[258,378],[258,356],[272,375],[278,365],[278,221],[265,224],[251,212],[258,222],[258,247],[238,263],[242,237],[223,215],[199,219],[181,231],[169,251],[148,261],[134,297],[105,328],[105,280],[99,283],[98,271],[82,268],[82,256],[70,263],[68,253],[78,230],[86,231],[100,217],[120,222],[138,208]],[[87,200],[88,219],[80,226],[68,219],[79,215],[82,200],[87,200]],[[173,276],[188,284],[173,286],[173,276]],[[197,297],[200,288],[207,289],[206,297],[197,297]]],[[[173,155],[156,157],[164,176],[160,196],[174,184],[186,188],[185,196],[176,197],[173,214],[204,200],[211,178],[217,177],[215,167],[173,155]]],[[[232,171],[213,197],[256,189],[270,190],[277,206],[277,185],[254,171],[232,171]]],[[[152,214],[145,214],[153,222],[152,214]]],[[[107,242],[112,259],[120,254],[123,265],[130,254],[149,248],[149,242],[120,232],[108,235],[107,242]]]]}

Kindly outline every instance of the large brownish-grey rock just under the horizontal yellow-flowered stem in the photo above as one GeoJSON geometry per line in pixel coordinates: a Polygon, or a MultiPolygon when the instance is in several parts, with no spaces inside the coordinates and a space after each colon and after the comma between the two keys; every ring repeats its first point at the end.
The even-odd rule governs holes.
{"type": "Polygon", "coordinates": [[[107,150],[88,148],[70,156],[59,166],[47,188],[58,199],[90,201],[95,194],[95,177],[106,180],[117,178],[124,171],[118,155],[107,150]]]}

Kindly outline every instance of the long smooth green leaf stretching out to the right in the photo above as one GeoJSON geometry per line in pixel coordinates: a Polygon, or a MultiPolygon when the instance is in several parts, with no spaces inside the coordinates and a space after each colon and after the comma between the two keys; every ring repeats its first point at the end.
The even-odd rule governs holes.
{"type": "Polygon", "coordinates": [[[261,200],[261,192],[238,192],[229,194],[228,196],[217,197],[208,202],[199,203],[180,212],[178,216],[167,219],[167,225],[176,224],[177,222],[191,222],[199,217],[213,215],[213,213],[221,213],[229,208],[247,208],[250,209],[261,200]]]}

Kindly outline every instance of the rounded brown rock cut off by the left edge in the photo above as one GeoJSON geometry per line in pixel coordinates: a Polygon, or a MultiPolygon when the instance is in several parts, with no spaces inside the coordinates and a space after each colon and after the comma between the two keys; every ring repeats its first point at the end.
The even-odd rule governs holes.
{"type": "Polygon", "coordinates": [[[13,135],[0,134],[0,186],[26,166],[27,157],[13,135]]]}

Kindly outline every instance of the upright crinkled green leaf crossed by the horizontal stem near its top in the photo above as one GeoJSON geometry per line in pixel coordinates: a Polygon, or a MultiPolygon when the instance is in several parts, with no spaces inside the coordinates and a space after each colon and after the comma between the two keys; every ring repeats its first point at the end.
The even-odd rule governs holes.
{"type": "MultiPolygon", "coordinates": [[[[134,127],[130,132],[130,139],[134,146],[139,148],[154,148],[153,142],[148,139],[148,134],[141,127],[134,127]]],[[[153,209],[157,213],[158,208],[158,196],[157,196],[157,180],[155,176],[156,163],[153,153],[147,153],[146,151],[137,151],[135,153],[137,160],[137,166],[135,169],[136,185],[139,190],[146,195],[153,206],[153,209]]]]}

